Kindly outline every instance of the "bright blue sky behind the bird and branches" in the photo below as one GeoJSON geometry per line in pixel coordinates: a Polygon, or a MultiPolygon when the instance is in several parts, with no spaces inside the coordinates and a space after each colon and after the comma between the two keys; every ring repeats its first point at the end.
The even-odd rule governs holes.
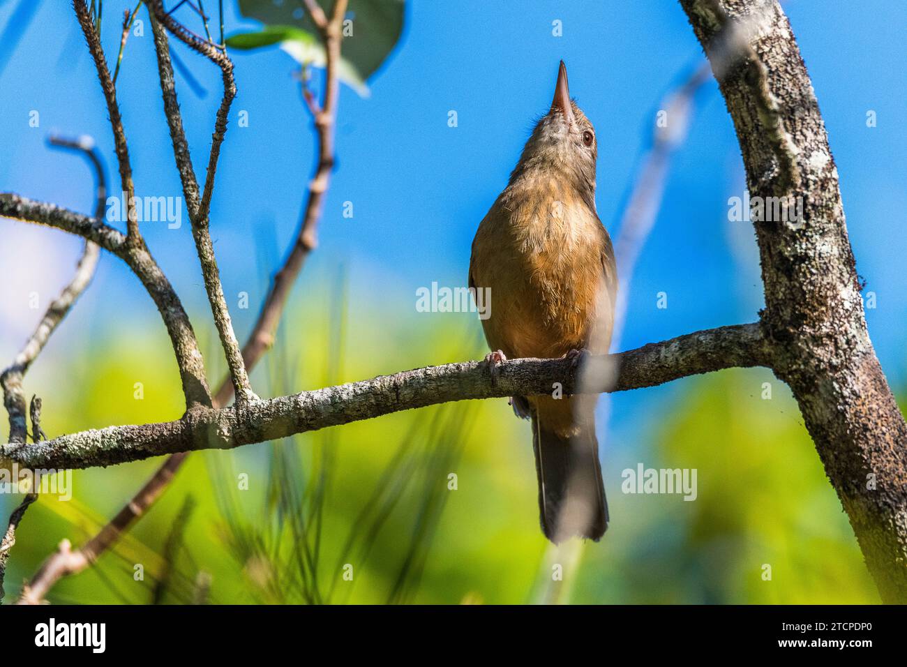
{"type": "MultiPolygon", "coordinates": [[[[0,31],[16,5],[0,1],[0,31]]],[[[119,40],[114,17],[127,5],[132,2],[105,3],[102,36],[111,59],[119,40]]],[[[234,3],[225,5],[228,34],[255,25],[235,14],[234,3]]],[[[877,294],[878,308],[868,312],[870,333],[889,378],[903,387],[907,75],[902,28],[907,5],[791,0],[785,11],[824,113],[857,268],[867,289],[877,294]],[[874,128],[866,126],[869,110],[877,114],[874,128]]],[[[180,18],[191,21],[183,10],[180,18]]],[[[92,134],[116,182],[102,94],[71,6],[41,3],[15,49],[12,43],[10,38],[0,44],[0,191],[90,211],[87,168],[44,142],[53,131],[92,134]],[[33,110],[40,113],[38,128],[28,123],[33,110]]],[[[181,45],[175,48],[208,90],[199,97],[178,76],[196,171],[203,174],[219,75],[199,56],[181,45]]],[[[321,224],[321,247],[307,272],[327,275],[342,263],[351,271],[354,303],[377,302],[389,312],[413,316],[418,287],[435,280],[463,284],[476,226],[506,184],[532,119],[551,103],[561,59],[570,72],[571,93],[597,128],[598,210],[613,236],[658,103],[700,58],[683,12],[669,0],[407,3],[404,36],[369,82],[370,95],[342,90],[338,166],[321,224]],[[561,37],[551,34],[555,19],[562,22],[561,37]],[[457,112],[456,128],[448,127],[450,110],[457,112]],[[345,201],[353,202],[353,219],[342,216],[345,201]]],[[[248,290],[255,304],[267,286],[258,280],[259,257],[282,255],[293,236],[314,144],[293,78],[297,65],[288,55],[270,48],[236,53],[234,61],[239,96],[211,218],[225,291],[248,290]],[[240,111],[249,113],[249,127],[235,122],[240,111]]],[[[150,30],[131,37],[122,66],[119,95],[137,193],[180,195],[150,30]]],[[[634,275],[625,348],[756,319],[761,285],[752,228],[727,220],[728,197],[741,196],[743,189],[733,127],[717,86],[708,83],[697,98],[688,140],[671,166],[655,230],[634,275]],[[668,309],[656,308],[659,291],[668,293],[668,309]]],[[[34,311],[23,306],[27,294],[59,289],[79,243],[10,221],[0,221],[0,234],[0,265],[5,275],[12,270],[16,277],[0,287],[0,355],[11,358],[34,327],[34,311]]],[[[145,234],[190,310],[205,316],[188,224],[180,230],[150,224],[145,234]]],[[[240,338],[254,308],[235,314],[240,338]]],[[[106,257],[96,285],[73,314],[82,326],[62,332],[64,345],[77,345],[85,327],[99,331],[111,320],[157,326],[156,317],[137,281],[121,262],[106,257]]],[[[422,361],[446,360],[452,359],[422,361]]],[[[674,390],[655,389],[646,400],[674,390]]],[[[623,405],[641,409],[637,397],[619,397],[616,412],[623,405]]]]}

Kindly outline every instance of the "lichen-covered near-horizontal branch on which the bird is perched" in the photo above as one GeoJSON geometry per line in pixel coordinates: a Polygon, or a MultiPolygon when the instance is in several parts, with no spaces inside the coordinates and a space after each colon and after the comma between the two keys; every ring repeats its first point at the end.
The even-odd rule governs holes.
{"type": "MultiPolygon", "coordinates": [[[[596,373],[604,379],[589,387],[611,392],[722,368],[770,366],[771,359],[759,325],[745,324],[697,331],[587,362],[617,369],[616,374],[596,373]]],[[[229,449],[467,398],[550,394],[556,384],[569,395],[578,386],[578,365],[569,358],[512,359],[503,362],[496,375],[493,379],[483,361],[418,368],[259,400],[246,410],[197,410],[178,421],[107,427],[27,446],[3,445],[0,456],[28,467],[110,466],[196,449],[229,449]]]]}

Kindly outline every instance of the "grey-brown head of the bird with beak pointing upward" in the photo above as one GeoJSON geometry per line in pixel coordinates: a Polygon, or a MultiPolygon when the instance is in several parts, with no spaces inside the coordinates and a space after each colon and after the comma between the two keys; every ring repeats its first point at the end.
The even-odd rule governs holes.
{"type": "Polygon", "coordinates": [[[561,61],[551,109],[532,130],[511,182],[521,175],[533,178],[545,173],[566,178],[578,191],[594,195],[597,156],[595,128],[571,100],[567,67],[561,61]]]}

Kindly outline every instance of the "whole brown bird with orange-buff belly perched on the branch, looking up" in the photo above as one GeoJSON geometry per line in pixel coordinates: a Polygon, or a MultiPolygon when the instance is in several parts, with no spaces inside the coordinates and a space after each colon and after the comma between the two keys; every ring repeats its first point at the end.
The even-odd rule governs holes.
{"type": "MultiPolygon", "coordinates": [[[[490,289],[485,338],[505,358],[581,358],[608,352],[617,268],[595,210],[597,143],[561,61],[551,110],[532,131],[506,189],[473,240],[469,284],[490,289]]],[[[608,527],[595,436],[597,397],[513,397],[532,419],[541,530],[555,544],[598,540],[608,527]]]]}

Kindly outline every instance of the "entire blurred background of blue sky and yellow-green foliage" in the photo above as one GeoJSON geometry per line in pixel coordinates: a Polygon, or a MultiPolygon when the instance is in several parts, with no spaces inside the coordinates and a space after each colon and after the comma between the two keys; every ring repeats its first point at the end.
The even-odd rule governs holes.
{"type": "MultiPolygon", "coordinates": [[[[122,11],[135,3],[103,5],[102,41],[112,61],[122,11]]],[[[217,15],[217,3],[205,5],[217,15]]],[[[233,0],[223,5],[228,35],[260,26],[233,0]]],[[[829,132],[863,294],[873,293],[873,343],[903,396],[907,5],[790,0],[785,12],[829,132]]],[[[188,6],[176,15],[197,21],[188,6]]],[[[136,191],[179,196],[145,9],[138,18],[143,35],[130,36],[117,83],[136,191]]],[[[171,43],[201,173],[219,73],[171,43]]],[[[211,228],[242,339],[295,234],[315,135],[297,61],[278,46],[231,55],[239,96],[211,228]],[[246,126],[239,113],[247,113],[246,126]]],[[[252,374],[260,395],[487,351],[474,313],[417,312],[416,290],[464,285],[476,226],[505,186],[533,119],[551,103],[561,59],[571,94],[597,129],[600,218],[612,236],[619,231],[659,104],[702,59],[680,7],[663,0],[406,2],[404,32],[367,91],[341,90],[320,246],[277,345],[252,374]]],[[[316,72],[316,89],[319,81],[316,72]]],[[[0,0],[0,191],[89,212],[92,174],[79,158],[48,148],[52,132],[93,135],[118,190],[102,93],[72,7],[0,0]]],[[[752,226],[728,219],[728,199],[744,192],[734,129],[709,80],[633,273],[621,348],[756,319],[762,292],[752,226]],[[667,308],[658,307],[659,296],[667,308]]],[[[150,222],[143,231],[190,311],[213,384],[224,364],[182,214],[180,229],[150,222]]],[[[69,279],[79,250],[80,241],[61,232],[0,221],[0,366],[69,279]],[[34,295],[41,309],[30,308],[34,295]]],[[[120,260],[102,255],[93,285],[30,370],[25,390],[43,397],[49,436],[180,416],[168,338],[120,260]]],[[[599,421],[611,524],[600,544],[572,549],[569,559],[552,553],[539,529],[529,425],[504,400],[473,401],[195,454],[114,552],[63,580],[49,599],[878,602],[795,402],[768,371],[730,370],[615,395],[601,403],[599,421]],[[622,472],[640,464],[696,469],[696,500],[622,493],[622,472]],[[552,564],[564,565],[563,581],[552,582],[552,564]]],[[[0,433],[5,439],[5,427],[0,433]]],[[[18,593],[61,539],[81,544],[93,534],[159,464],[77,471],[72,501],[45,497],[34,505],[10,559],[7,594],[18,593]]],[[[0,510],[6,515],[17,502],[0,496],[0,510]]]]}

